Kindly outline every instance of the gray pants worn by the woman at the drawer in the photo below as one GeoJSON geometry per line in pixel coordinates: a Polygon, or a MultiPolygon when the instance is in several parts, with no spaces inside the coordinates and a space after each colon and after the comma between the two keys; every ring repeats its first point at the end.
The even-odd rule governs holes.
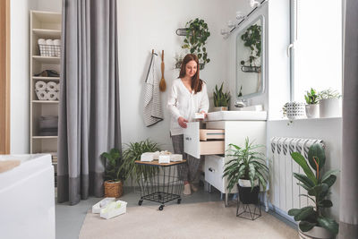
{"type": "Polygon", "coordinates": [[[183,175],[179,175],[183,181],[193,182],[197,176],[200,165],[200,158],[194,158],[191,155],[184,153],[183,134],[171,135],[173,148],[175,154],[182,154],[183,159],[186,159],[186,164],[183,169],[183,175]]]}

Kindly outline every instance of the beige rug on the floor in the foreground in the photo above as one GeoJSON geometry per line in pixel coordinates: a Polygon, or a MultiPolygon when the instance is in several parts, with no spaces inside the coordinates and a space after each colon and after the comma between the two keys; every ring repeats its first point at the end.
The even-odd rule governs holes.
{"type": "Polygon", "coordinates": [[[80,239],[99,238],[298,238],[297,231],[262,210],[262,217],[251,221],[236,218],[234,206],[222,201],[127,208],[112,219],[88,213],[80,239]]]}

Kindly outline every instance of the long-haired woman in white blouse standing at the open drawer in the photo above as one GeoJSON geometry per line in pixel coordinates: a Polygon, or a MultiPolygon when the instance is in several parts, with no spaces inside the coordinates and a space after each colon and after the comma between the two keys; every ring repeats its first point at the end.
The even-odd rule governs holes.
{"type": "Polygon", "coordinates": [[[183,170],[183,194],[189,195],[197,188],[192,184],[200,165],[200,158],[193,158],[183,152],[183,129],[186,123],[192,122],[195,113],[206,116],[209,109],[207,86],[199,78],[199,59],[193,54],[185,55],[179,77],[173,81],[169,92],[167,107],[172,115],[170,122],[170,135],[173,141],[175,154],[183,154],[187,165],[183,170]]]}

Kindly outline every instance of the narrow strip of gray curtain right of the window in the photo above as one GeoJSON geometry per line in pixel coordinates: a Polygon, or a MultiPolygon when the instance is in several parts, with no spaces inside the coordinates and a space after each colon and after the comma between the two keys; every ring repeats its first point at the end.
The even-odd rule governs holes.
{"type": "Polygon", "coordinates": [[[339,238],[358,238],[358,1],[345,1],[343,157],[339,238]]]}

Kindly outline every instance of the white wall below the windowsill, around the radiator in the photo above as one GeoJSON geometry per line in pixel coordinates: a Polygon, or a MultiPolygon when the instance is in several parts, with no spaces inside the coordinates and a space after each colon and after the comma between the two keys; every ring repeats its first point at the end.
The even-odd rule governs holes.
{"type": "MultiPolygon", "coordinates": [[[[272,137],[290,137],[302,139],[320,139],[326,145],[326,165],[324,170],[340,169],[342,159],[342,118],[326,119],[303,119],[295,120],[293,124],[287,125],[287,121],[268,121],[268,150],[269,141],[272,137]]],[[[269,154],[268,154],[269,155],[269,154]]],[[[338,219],[339,216],[339,184],[337,182],[331,188],[331,201],[333,207],[331,214],[338,219]]]]}

